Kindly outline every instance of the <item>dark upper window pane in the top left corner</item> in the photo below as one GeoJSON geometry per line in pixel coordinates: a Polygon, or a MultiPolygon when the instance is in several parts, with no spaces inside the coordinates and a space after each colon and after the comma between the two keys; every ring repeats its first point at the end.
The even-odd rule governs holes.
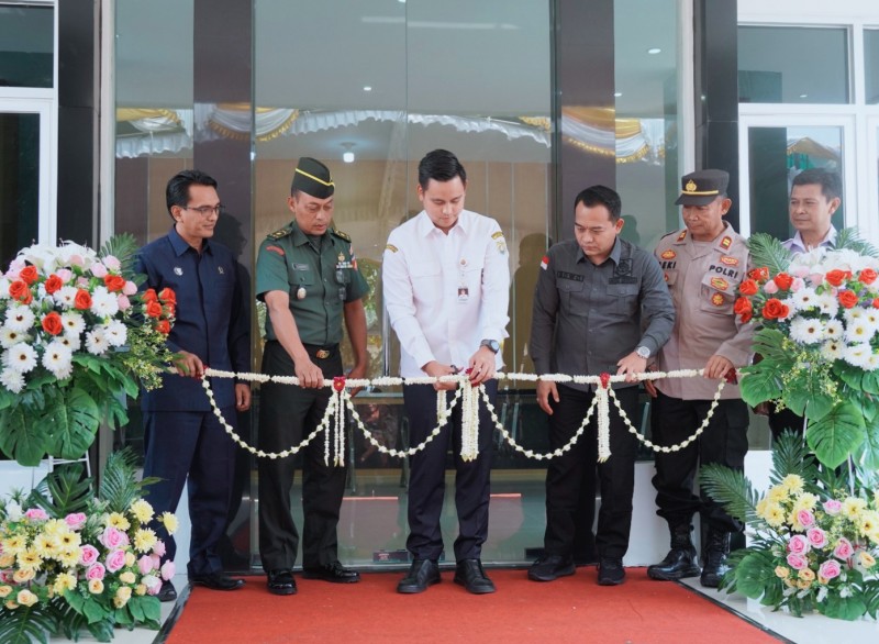
{"type": "Polygon", "coordinates": [[[0,86],[52,87],[52,7],[0,7],[0,86]]]}

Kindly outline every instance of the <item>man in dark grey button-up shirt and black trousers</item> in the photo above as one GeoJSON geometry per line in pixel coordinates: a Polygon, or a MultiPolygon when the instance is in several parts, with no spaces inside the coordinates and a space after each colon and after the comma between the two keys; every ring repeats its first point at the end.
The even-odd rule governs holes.
{"type": "MultiPolygon", "coordinates": [[[[530,354],[537,374],[568,376],[639,374],[666,343],[675,306],[656,258],[619,237],[620,196],[604,186],[587,188],[575,200],[575,240],[549,248],[534,293],[530,354]]],[[[614,385],[630,419],[638,418],[636,382],[614,385]]],[[[594,387],[538,381],[537,402],[549,414],[549,446],[564,446],[592,403],[594,387]]],[[[611,457],[598,464],[601,485],[596,548],[598,582],[625,579],[637,440],[614,409],[610,421],[611,457]]],[[[528,570],[534,581],[552,581],[575,571],[577,523],[591,531],[594,517],[598,419],[572,449],[553,458],[546,470],[544,556],[528,570]],[[580,500],[588,510],[583,515],[580,500]]]]}

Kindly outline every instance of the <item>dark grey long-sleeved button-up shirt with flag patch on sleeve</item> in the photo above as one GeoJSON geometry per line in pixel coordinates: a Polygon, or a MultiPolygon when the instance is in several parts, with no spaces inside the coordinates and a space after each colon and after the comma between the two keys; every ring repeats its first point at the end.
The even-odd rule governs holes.
{"type": "Polygon", "coordinates": [[[549,248],[541,267],[528,344],[537,374],[613,375],[635,347],[655,355],[668,340],[675,304],[659,263],[646,251],[617,237],[596,266],[570,240],[549,248]]]}

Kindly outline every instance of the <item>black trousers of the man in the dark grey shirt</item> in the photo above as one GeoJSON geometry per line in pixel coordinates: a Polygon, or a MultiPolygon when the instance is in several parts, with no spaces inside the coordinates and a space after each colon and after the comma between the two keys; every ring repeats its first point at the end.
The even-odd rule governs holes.
{"type": "MultiPolygon", "coordinates": [[[[638,388],[615,389],[620,404],[633,424],[637,422],[638,388]]],[[[586,418],[594,392],[558,386],[559,401],[550,399],[549,447],[568,443],[586,418]]],[[[601,486],[596,549],[601,557],[623,557],[632,528],[632,496],[635,491],[637,438],[628,433],[615,406],[610,403],[611,457],[598,463],[598,414],[593,412],[586,431],[571,449],[549,460],[546,468],[547,555],[574,556],[585,530],[591,533],[596,512],[596,467],[601,486]]]]}

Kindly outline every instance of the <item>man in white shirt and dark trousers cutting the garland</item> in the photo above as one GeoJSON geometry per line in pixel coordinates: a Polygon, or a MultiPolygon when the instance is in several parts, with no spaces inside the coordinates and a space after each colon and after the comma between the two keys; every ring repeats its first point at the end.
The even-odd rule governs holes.
{"type": "MultiPolygon", "coordinates": [[[[400,340],[403,378],[441,377],[469,369],[474,385],[485,385],[493,401],[496,369],[503,365],[500,342],[507,337],[510,267],[500,225],[464,209],[467,174],[445,149],[419,164],[418,196],[424,210],[391,232],[385,248],[385,304],[400,340]]],[[[418,445],[437,424],[436,392],[455,384],[404,385],[410,442],[418,445]]],[[[494,592],[486,576],[481,548],[488,535],[492,423],[479,411],[479,456],[460,457],[460,404],[448,425],[411,457],[409,482],[409,574],[398,592],[422,592],[438,584],[443,552],[439,514],[445,492],[446,454],[455,459],[455,582],[468,591],[494,592]]]]}

